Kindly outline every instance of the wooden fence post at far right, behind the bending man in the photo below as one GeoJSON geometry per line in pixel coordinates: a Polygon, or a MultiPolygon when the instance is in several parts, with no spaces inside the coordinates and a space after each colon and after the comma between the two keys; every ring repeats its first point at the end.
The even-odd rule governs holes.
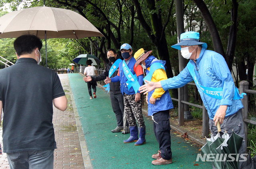
{"type": "MultiPolygon", "coordinates": [[[[245,89],[249,89],[249,82],[243,80],[241,82],[239,82],[239,93],[245,93],[244,90],[245,89]]],[[[244,95],[244,98],[242,99],[242,103],[244,105],[244,109],[242,109],[243,112],[243,123],[244,123],[244,134],[245,134],[245,143],[246,143],[246,147],[247,147],[247,135],[248,135],[248,123],[244,122],[244,119],[248,119],[248,95],[244,95]]]]}

